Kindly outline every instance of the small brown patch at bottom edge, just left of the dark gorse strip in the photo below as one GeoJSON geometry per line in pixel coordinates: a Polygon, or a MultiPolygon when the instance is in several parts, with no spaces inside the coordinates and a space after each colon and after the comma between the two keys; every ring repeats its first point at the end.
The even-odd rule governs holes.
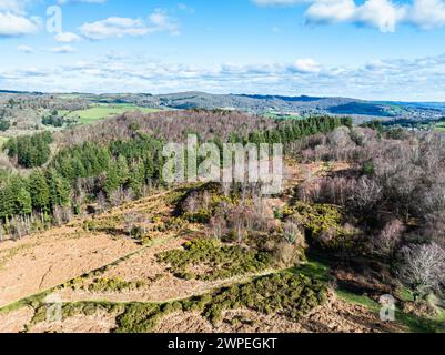
{"type": "Polygon", "coordinates": [[[104,311],[93,315],[79,314],[61,322],[42,322],[29,328],[29,333],[110,333],[115,328],[115,315],[104,311]]]}

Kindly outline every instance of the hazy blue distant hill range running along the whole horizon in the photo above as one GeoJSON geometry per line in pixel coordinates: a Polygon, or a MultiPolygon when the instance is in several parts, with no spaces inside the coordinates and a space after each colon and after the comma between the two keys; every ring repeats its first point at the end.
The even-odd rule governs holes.
{"type": "Polygon", "coordinates": [[[441,102],[391,102],[365,101],[351,98],[323,97],[285,97],[267,94],[212,94],[200,91],[179,92],[169,94],[150,93],[23,93],[16,91],[0,91],[1,95],[11,97],[48,97],[59,99],[80,99],[91,104],[133,104],[152,109],[224,109],[240,110],[254,114],[282,115],[313,115],[335,114],[351,115],[357,122],[373,119],[408,121],[432,121],[445,116],[445,103],[441,102]]]}

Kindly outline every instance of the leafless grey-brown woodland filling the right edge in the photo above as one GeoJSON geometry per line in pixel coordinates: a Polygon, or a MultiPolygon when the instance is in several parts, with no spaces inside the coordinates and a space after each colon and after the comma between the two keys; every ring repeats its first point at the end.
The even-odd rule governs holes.
{"type": "MultiPolygon", "coordinates": [[[[336,206],[340,219],[314,237],[343,258],[366,255],[380,276],[397,276],[424,296],[445,286],[445,139],[401,129],[337,129],[293,144],[303,162],[350,169],[301,184],[295,197],[336,206]],[[336,222],[341,222],[340,224],[336,222]],[[386,273],[390,270],[391,273],[386,273]]],[[[320,220],[321,221],[321,220],[320,220]]],[[[331,222],[332,222],[331,221],[331,222]]]]}

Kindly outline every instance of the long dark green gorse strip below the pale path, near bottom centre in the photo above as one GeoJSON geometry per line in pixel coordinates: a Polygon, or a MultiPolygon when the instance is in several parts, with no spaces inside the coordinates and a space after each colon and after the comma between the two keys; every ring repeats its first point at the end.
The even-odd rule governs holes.
{"type": "Polygon", "coordinates": [[[216,323],[222,321],[224,311],[250,308],[263,314],[281,314],[296,321],[325,300],[325,284],[302,275],[280,273],[185,301],[129,304],[117,317],[115,332],[153,332],[158,322],[172,312],[199,312],[216,323]]]}

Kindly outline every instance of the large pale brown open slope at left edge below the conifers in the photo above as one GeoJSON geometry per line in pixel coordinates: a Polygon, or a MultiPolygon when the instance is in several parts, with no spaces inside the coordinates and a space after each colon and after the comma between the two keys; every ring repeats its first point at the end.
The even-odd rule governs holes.
{"type": "Polygon", "coordinates": [[[78,277],[140,246],[71,226],[0,244],[0,306],[78,277]]]}

